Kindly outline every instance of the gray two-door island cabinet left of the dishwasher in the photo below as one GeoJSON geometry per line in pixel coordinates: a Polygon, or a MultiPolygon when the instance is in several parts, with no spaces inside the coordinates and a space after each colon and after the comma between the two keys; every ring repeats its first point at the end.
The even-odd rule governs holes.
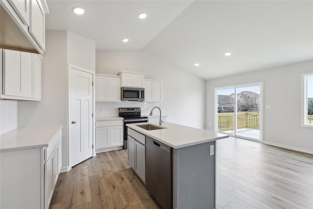
{"type": "Polygon", "coordinates": [[[128,128],[128,164],[146,183],[146,137],[128,128]]]}

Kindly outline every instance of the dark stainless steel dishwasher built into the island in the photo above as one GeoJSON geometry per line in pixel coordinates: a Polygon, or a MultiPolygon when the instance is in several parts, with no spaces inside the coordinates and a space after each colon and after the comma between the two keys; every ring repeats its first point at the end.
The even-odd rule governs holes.
{"type": "Polygon", "coordinates": [[[146,187],[162,209],[173,206],[172,148],[146,137],[146,187]]]}

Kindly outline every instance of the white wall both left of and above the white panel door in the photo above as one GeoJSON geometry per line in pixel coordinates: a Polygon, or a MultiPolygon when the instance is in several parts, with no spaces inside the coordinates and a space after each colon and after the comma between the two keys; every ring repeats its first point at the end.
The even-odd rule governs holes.
{"type": "Polygon", "coordinates": [[[42,99],[18,101],[18,127],[63,125],[63,169],[68,165],[67,63],[94,71],[95,42],[68,31],[46,30],[42,99]],[[82,50],[86,47],[86,50],[82,50]],[[85,59],[86,58],[86,59],[85,59]]]}

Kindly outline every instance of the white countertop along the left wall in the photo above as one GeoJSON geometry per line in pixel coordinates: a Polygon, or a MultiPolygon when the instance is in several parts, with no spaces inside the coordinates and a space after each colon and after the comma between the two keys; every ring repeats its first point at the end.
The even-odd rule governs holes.
{"type": "Polygon", "coordinates": [[[48,146],[62,125],[18,128],[0,135],[0,152],[48,146]]]}

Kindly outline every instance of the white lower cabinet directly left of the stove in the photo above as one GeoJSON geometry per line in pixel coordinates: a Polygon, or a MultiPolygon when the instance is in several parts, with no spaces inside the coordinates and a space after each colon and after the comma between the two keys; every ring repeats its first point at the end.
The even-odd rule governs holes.
{"type": "Polygon", "coordinates": [[[96,153],[123,146],[123,120],[96,122],[96,153]]]}

